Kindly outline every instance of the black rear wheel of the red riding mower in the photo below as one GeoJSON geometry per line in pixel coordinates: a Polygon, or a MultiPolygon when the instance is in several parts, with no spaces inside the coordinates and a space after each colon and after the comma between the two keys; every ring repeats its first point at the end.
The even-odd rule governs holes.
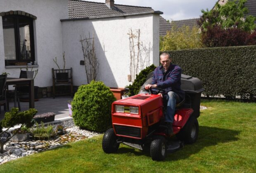
{"type": "Polygon", "coordinates": [[[196,117],[190,117],[185,126],[177,133],[176,137],[186,144],[192,144],[197,141],[199,125],[196,117]]]}

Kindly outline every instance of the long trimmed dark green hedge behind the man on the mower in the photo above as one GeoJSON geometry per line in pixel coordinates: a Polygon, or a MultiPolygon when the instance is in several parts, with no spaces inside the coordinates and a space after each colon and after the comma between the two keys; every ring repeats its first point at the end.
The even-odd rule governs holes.
{"type": "Polygon", "coordinates": [[[183,74],[199,78],[208,96],[256,97],[256,45],[168,51],[183,74]]]}

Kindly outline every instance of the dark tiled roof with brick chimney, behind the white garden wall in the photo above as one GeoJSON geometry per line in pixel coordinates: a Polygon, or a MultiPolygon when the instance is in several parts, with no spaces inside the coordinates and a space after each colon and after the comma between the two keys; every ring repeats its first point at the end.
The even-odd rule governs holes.
{"type": "MultiPolygon", "coordinates": [[[[82,0],[68,0],[69,19],[95,18],[103,16],[114,16],[121,14],[137,14],[143,12],[154,12],[151,7],[140,7],[131,5],[115,4],[113,9],[107,7],[105,3],[90,2],[82,0]]],[[[166,35],[171,25],[162,16],[159,16],[159,35],[166,35]]]]}

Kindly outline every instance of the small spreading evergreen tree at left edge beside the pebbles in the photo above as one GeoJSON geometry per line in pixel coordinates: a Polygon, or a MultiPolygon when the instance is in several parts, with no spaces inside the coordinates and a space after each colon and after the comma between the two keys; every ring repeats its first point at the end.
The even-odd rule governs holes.
{"type": "Polygon", "coordinates": [[[16,133],[10,135],[7,131],[17,124],[21,124],[20,128],[26,126],[31,127],[33,125],[33,117],[36,115],[36,109],[29,109],[23,112],[19,112],[18,108],[12,108],[10,112],[5,113],[4,119],[0,122],[0,152],[4,152],[4,145],[7,143],[16,133]],[[5,131],[2,128],[6,128],[5,131]]]}

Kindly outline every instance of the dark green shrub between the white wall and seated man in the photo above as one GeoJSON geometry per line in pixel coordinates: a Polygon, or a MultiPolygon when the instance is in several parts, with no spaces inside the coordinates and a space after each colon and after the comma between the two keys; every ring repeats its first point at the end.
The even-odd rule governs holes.
{"type": "Polygon", "coordinates": [[[150,65],[149,67],[142,70],[139,75],[136,75],[136,79],[134,80],[133,84],[127,86],[129,88],[129,96],[134,96],[138,94],[140,91],[140,87],[146,82],[147,75],[154,71],[156,66],[154,64],[150,65]]]}

